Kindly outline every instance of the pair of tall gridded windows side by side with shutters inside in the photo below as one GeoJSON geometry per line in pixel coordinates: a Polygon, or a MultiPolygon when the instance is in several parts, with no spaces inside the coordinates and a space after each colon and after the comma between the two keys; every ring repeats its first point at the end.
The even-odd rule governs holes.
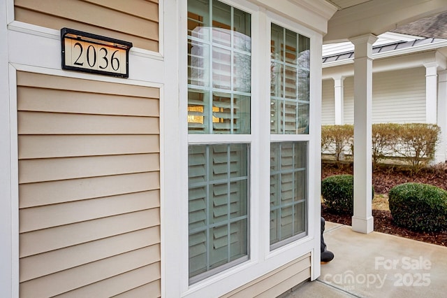
{"type": "MultiPolygon", "coordinates": [[[[249,260],[249,231],[258,229],[249,225],[257,219],[251,204],[263,206],[253,209],[265,215],[270,204],[270,218],[261,219],[270,220],[270,250],[308,233],[310,40],[277,24],[271,24],[270,41],[260,36],[266,47],[257,48],[255,57],[268,57],[270,42],[270,61],[255,69],[268,71],[270,64],[270,97],[268,85],[254,82],[261,90],[255,102],[251,15],[217,0],[188,0],[187,8],[191,285],[249,260]],[[259,164],[268,169],[269,152],[270,173],[254,179],[270,176],[270,192],[249,171],[259,164]],[[250,160],[256,157],[263,160],[250,160]],[[252,183],[266,191],[250,200],[252,183]]],[[[268,230],[257,232],[268,237],[268,230]]]]}

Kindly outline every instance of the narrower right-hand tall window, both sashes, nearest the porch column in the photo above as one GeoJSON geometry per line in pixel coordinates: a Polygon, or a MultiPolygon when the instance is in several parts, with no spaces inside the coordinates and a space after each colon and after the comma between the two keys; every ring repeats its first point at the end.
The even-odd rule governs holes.
{"type": "Polygon", "coordinates": [[[270,41],[270,248],[307,235],[309,38],[272,24],[270,41]],[[288,141],[286,141],[288,140],[288,141]],[[297,139],[298,140],[298,139],[297,139]]]}

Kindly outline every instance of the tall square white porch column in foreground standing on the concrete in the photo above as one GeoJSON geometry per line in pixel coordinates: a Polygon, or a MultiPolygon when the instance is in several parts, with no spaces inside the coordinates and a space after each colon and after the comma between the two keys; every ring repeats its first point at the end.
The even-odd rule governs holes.
{"type": "Polygon", "coordinates": [[[372,218],[372,44],[373,34],[351,38],[354,44],[354,214],[352,229],[368,234],[372,218]]]}

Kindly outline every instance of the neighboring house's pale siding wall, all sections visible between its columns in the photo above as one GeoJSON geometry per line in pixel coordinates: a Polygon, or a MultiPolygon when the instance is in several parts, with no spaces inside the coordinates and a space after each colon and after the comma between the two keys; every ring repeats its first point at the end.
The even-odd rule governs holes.
{"type": "MultiPolygon", "coordinates": [[[[425,122],[425,68],[373,73],[373,123],[425,122]]],[[[344,124],[354,122],[353,76],[344,79],[344,124]]],[[[334,80],[323,80],[323,125],[335,124],[334,80]]]]}

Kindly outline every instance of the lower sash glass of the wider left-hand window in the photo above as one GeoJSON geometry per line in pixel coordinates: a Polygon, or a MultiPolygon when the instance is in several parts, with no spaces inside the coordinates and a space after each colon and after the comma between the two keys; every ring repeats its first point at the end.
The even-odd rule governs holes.
{"type": "Polygon", "coordinates": [[[248,152],[247,144],[189,146],[191,281],[248,258],[248,152]]]}

